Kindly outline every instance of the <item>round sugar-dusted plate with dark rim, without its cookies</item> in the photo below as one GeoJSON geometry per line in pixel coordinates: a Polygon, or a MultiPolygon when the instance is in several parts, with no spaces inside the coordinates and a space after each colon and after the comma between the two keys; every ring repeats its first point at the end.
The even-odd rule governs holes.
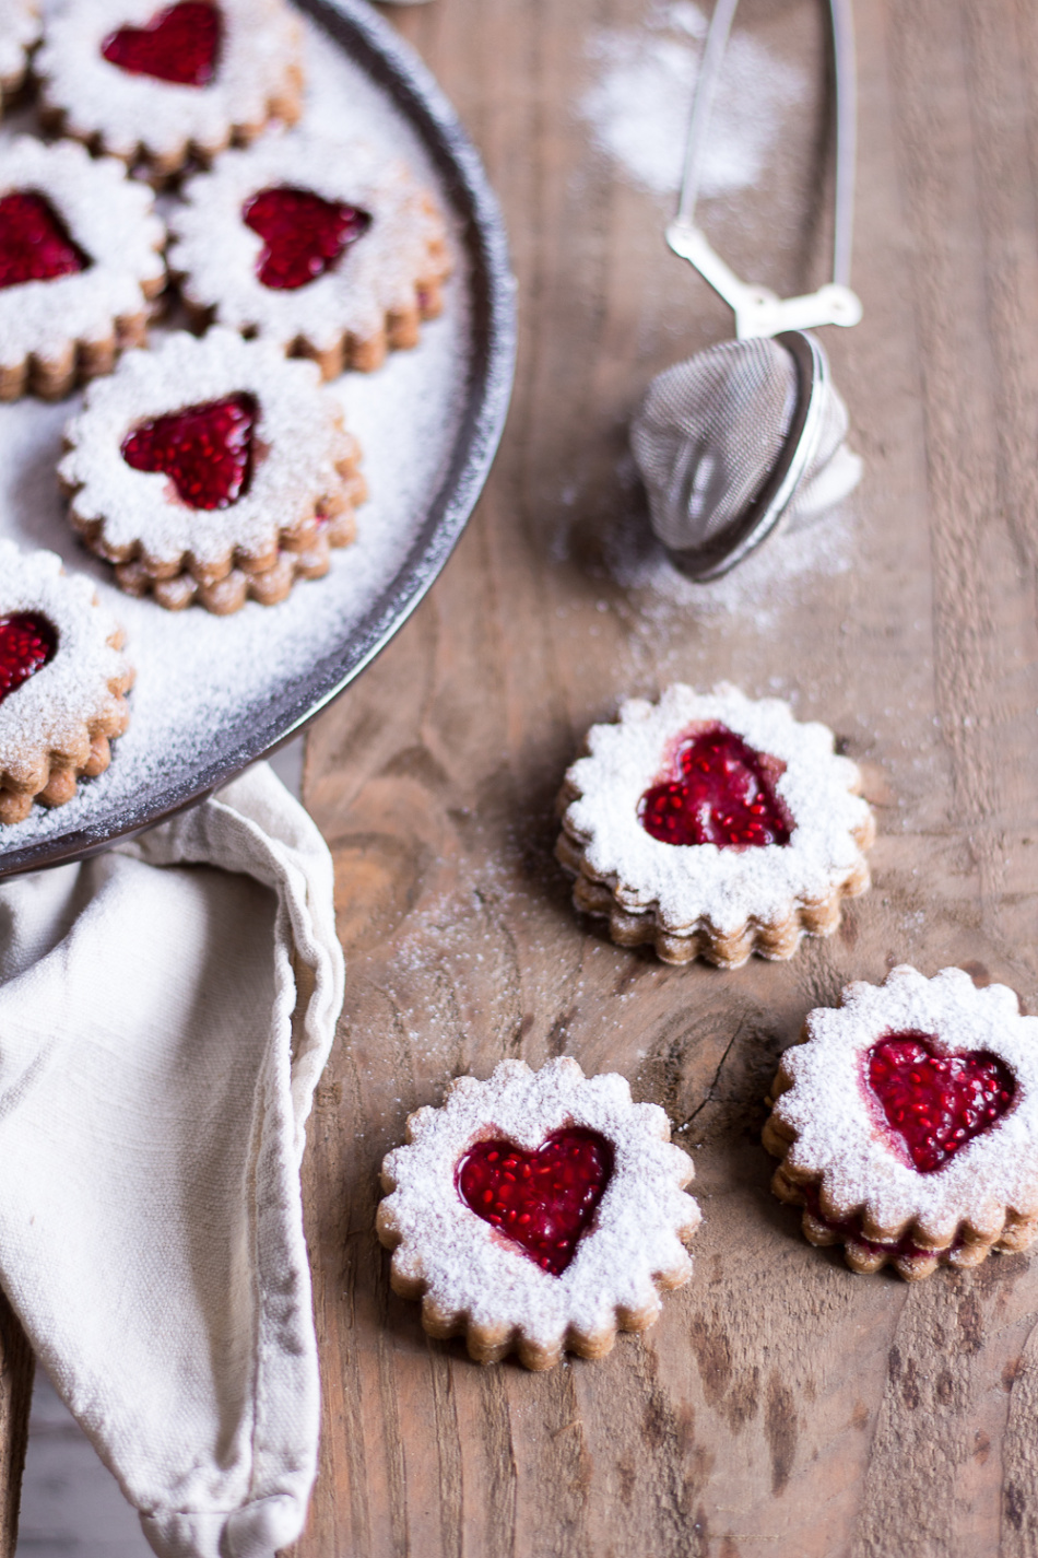
{"type": "MultiPolygon", "coordinates": [[[[327,578],[233,617],[165,612],[115,589],[73,536],[54,466],[59,405],[0,407],[0,536],[87,573],[128,633],[132,721],[112,767],[68,805],[0,827],[0,877],[103,849],[202,799],[297,734],[389,642],[444,567],[501,436],[515,358],[514,282],[498,206],[451,106],[364,0],[299,0],[305,122],[403,156],[448,213],[454,274],[444,315],[411,352],[333,386],[364,453],[358,539],[327,578]]],[[[34,128],[33,111],[3,136],[34,128]]]]}

